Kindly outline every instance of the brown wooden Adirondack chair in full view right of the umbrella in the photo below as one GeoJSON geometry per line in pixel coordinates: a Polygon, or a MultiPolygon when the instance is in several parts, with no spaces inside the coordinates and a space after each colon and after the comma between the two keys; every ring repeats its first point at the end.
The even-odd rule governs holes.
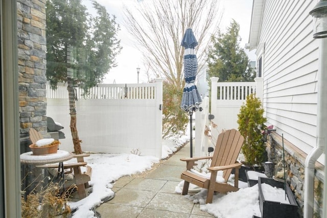
{"type": "Polygon", "coordinates": [[[180,178],[184,180],[182,194],[187,194],[190,183],[195,184],[201,188],[208,189],[206,203],[212,203],[214,191],[220,193],[227,193],[229,191],[239,190],[239,168],[242,163],[237,162],[237,158],[241,151],[244,137],[236,129],[229,129],[224,133],[219,134],[214,154],[211,157],[200,158],[184,158],[181,161],[186,161],[186,171],[181,173],[180,178]],[[195,162],[199,160],[212,159],[211,166],[208,170],[211,172],[211,178],[207,179],[190,170],[195,162]],[[227,184],[231,170],[235,168],[235,183],[234,186],[227,184]],[[225,183],[217,183],[217,172],[223,170],[223,178],[225,183]]]}

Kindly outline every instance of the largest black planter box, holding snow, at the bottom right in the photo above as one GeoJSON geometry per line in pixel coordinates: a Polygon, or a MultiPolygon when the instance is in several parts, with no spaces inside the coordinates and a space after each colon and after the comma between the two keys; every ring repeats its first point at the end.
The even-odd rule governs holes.
{"type": "Polygon", "coordinates": [[[284,189],[284,182],[279,182],[269,178],[258,178],[259,204],[262,218],[299,218],[298,206],[295,201],[294,194],[288,185],[286,185],[286,194],[290,204],[284,204],[281,202],[265,200],[262,192],[262,183],[284,189]]]}

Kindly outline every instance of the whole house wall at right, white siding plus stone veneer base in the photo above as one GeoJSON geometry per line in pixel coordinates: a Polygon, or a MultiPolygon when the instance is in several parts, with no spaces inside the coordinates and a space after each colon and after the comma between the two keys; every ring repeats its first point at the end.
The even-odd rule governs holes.
{"type": "MultiPolygon", "coordinates": [[[[287,182],[302,211],[305,159],[316,147],[317,136],[319,41],[313,38],[309,12],[318,1],[254,1],[263,8],[259,38],[250,33],[250,49],[255,45],[257,60],[262,58],[263,106],[267,124],[276,128],[267,144],[269,160],[281,163],[284,145],[287,182]]],[[[315,217],[322,216],[324,155],[318,161],[315,217]]]]}

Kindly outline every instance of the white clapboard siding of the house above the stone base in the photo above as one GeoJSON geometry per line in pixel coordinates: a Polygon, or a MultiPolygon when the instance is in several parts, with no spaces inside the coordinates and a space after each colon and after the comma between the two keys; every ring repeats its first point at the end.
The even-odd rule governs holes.
{"type": "MultiPolygon", "coordinates": [[[[256,51],[258,60],[263,60],[268,124],[306,154],[316,146],[319,50],[309,15],[315,4],[309,0],[264,1],[256,51]]],[[[323,157],[319,162],[323,163],[323,157]]]]}

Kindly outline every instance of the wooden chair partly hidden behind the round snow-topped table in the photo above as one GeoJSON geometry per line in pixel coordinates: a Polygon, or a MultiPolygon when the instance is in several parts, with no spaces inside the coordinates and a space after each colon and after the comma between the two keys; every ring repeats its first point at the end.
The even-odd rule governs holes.
{"type": "MultiPolygon", "coordinates": [[[[32,143],[35,143],[38,140],[43,139],[41,133],[37,132],[34,128],[30,128],[29,133],[30,133],[30,140],[32,143]]],[[[73,184],[76,184],[77,191],[80,198],[86,197],[85,188],[89,187],[88,182],[91,180],[91,175],[92,175],[92,168],[90,166],[87,166],[87,162],[84,161],[84,157],[88,157],[88,156],[89,156],[88,154],[74,155],[74,157],[77,159],[77,163],[64,164],[63,166],[64,169],[68,169],[68,171],[65,171],[65,174],[73,173],[74,175],[74,179],[64,181],[65,187],[69,187],[73,184]],[[85,172],[82,172],[81,166],[86,167],[85,172]]],[[[46,164],[46,165],[39,165],[36,167],[48,168],[49,172],[52,172],[51,174],[54,174],[52,169],[56,169],[56,168],[58,169],[58,164],[46,164]]]]}

